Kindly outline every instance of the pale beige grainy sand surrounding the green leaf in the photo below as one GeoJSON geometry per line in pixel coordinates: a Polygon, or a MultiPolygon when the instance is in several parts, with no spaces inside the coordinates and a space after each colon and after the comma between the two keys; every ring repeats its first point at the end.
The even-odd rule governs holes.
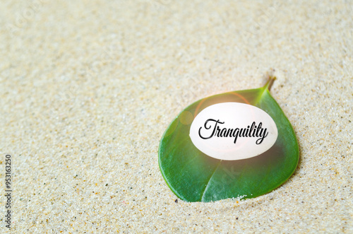
{"type": "Polygon", "coordinates": [[[1,1],[13,232],[352,233],[352,15],[348,0],[1,1]],[[169,122],[273,69],[294,175],[256,199],[176,203],[157,161],[169,122]]]}

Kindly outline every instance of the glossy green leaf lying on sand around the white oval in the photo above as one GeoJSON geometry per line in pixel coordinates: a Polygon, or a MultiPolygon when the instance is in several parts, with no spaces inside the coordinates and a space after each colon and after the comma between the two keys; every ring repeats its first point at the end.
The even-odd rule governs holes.
{"type": "Polygon", "coordinates": [[[266,194],[282,185],[297,168],[299,147],[292,125],[268,88],[240,90],[213,95],[189,105],[169,125],[159,149],[160,171],[174,194],[185,201],[248,199],[266,194]],[[242,160],[218,160],[193,145],[190,126],[210,105],[237,102],[261,108],[275,121],[278,137],[265,153],[242,160]]]}

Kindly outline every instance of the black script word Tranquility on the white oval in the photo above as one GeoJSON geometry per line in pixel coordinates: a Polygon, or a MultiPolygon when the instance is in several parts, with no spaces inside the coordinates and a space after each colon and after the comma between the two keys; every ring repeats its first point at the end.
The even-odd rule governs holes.
{"type": "MultiPolygon", "coordinates": [[[[208,131],[208,136],[201,136],[201,129],[198,129],[198,135],[202,139],[210,139],[211,137],[234,137],[234,144],[237,143],[238,137],[258,137],[256,140],[256,144],[261,144],[263,142],[263,139],[265,139],[266,136],[268,136],[268,131],[267,129],[262,128],[262,122],[256,126],[256,123],[253,122],[251,124],[251,127],[248,126],[244,129],[227,129],[223,128],[221,129],[219,124],[224,124],[225,122],[220,122],[220,119],[215,120],[215,119],[207,119],[205,122],[205,129],[210,129],[212,131],[208,131]]],[[[206,132],[207,133],[207,132],[206,132]]]]}

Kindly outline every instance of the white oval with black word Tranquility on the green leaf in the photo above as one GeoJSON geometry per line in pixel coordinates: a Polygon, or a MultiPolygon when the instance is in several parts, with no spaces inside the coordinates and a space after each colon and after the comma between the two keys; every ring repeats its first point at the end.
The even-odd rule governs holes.
{"type": "Polygon", "coordinates": [[[278,136],[273,119],[258,107],[218,103],[193,119],[190,138],[206,155],[221,160],[252,158],[268,151],[278,136]]]}

